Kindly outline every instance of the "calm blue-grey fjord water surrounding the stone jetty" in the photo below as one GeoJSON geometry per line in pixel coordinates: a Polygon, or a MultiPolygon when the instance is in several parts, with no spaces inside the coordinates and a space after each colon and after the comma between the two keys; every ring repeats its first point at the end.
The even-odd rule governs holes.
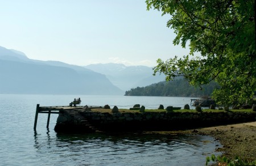
{"type": "Polygon", "coordinates": [[[130,108],[184,107],[190,97],[0,95],[0,165],[204,165],[214,152],[212,137],[202,135],[93,133],[57,134],[57,114],[39,114],[34,131],[36,104],[68,105],[81,97],[81,105],[130,108]]]}

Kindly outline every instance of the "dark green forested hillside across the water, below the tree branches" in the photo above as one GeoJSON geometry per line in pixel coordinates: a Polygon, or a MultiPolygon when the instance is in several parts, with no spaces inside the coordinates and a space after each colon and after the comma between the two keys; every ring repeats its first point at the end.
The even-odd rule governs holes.
{"type": "Polygon", "coordinates": [[[159,82],[146,87],[131,88],[125,96],[209,96],[218,85],[210,82],[208,85],[193,87],[185,79],[170,82],[159,82]]]}

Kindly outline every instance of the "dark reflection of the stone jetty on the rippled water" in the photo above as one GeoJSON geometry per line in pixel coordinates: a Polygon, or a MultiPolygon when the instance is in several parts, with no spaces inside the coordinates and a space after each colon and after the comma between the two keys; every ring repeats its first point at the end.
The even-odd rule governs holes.
{"type": "MultiPolygon", "coordinates": [[[[173,144],[174,142],[197,146],[196,142],[203,138],[213,140],[202,135],[185,134],[138,134],[138,133],[92,133],[92,134],[56,134],[60,142],[111,142],[115,143],[139,143],[139,144],[173,144]],[[195,142],[196,141],[196,142],[195,142]]],[[[213,142],[213,141],[209,141],[213,142]]]]}

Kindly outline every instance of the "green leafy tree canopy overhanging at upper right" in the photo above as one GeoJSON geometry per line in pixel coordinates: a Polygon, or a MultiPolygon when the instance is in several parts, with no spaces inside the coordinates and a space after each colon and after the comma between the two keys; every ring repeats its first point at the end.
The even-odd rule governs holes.
{"type": "Polygon", "coordinates": [[[184,76],[194,86],[216,80],[219,104],[241,104],[256,86],[254,0],[147,0],[147,9],[171,15],[174,45],[189,43],[183,58],[158,59],[155,73],[167,80],[184,76]],[[200,53],[195,57],[194,53],[200,53]]]}

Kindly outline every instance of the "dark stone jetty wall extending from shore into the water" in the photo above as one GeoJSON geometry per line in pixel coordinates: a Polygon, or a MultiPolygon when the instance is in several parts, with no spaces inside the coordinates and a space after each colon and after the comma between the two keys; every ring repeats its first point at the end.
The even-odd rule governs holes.
{"type": "Polygon", "coordinates": [[[120,112],[114,107],[61,111],[55,131],[164,131],[255,121],[256,112],[120,112]]]}

